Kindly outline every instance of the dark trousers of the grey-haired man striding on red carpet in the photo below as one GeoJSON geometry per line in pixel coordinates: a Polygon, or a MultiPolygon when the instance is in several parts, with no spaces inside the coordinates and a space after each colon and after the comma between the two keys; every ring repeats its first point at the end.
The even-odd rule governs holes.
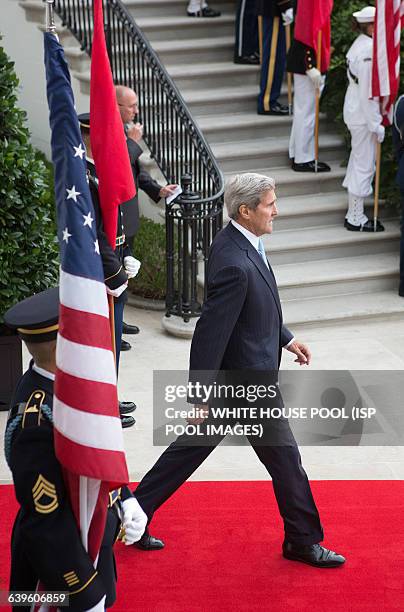
{"type": "MultiPolygon", "coordinates": [[[[207,419],[207,423],[212,422],[207,419]]],[[[272,477],[285,539],[302,545],[320,542],[323,530],[319,514],[289,423],[286,419],[272,419],[263,426],[263,439],[257,441],[249,437],[248,441],[272,477]]],[[[209,446],[197,446],[193,438],[183,435],[163,452],[134,493],[149,523],[154,512],[195,472],[222,439],[223,436],[218,435],[209,439],[209,446]]]]}

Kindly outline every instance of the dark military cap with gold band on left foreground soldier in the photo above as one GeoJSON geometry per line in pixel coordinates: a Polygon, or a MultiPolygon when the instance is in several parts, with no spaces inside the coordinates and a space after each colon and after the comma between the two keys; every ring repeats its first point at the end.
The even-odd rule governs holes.
{"type": "Polygon", "coordinates": [[[55,340],[59,329],[59,287],[14,304],[4,315],[8,327],[26,342],[55,340]]]}

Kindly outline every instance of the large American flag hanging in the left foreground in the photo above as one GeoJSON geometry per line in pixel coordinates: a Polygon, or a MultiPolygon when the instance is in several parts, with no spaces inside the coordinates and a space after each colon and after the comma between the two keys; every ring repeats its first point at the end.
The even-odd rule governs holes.
{"type": "Polygon", "coordinates": [[[95,561],[108,491],[128,482],[103,266],[85,149],[61,45],[45,33],[60,244],[54,437],[82,541],[95,561]]]}

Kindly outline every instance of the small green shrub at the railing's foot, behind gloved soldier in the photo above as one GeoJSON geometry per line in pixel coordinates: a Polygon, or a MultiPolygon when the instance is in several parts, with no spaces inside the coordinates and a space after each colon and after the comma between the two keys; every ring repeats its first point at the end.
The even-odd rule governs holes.
{"type": "Polygon", "coordinates": [[[136,295],[164,300],[166,295],[166,231],[165,226],[141,217],[133,255],[142,262],[139,274],[129,281],[136,295]]]}

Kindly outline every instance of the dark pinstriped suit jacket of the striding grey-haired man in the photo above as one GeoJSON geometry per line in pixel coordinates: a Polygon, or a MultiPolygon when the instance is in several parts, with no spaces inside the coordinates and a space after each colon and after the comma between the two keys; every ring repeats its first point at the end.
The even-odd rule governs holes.
{"type": "Polygon", "coordinates": [[[191,372],[278,370],[282,347],[293,335],[282,322],[276,280],[231,223],[212,243],[207,283],[192,339],[191,372]]]}

